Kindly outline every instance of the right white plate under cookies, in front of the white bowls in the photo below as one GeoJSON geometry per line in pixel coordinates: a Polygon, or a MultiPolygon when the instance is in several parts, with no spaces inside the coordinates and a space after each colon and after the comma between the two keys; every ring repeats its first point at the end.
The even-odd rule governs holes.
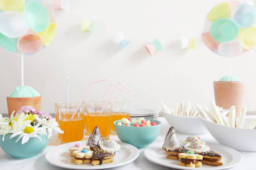
{"type": "Polygon", "coordinates": [[[200,168],[189,168],[189,167],[183,167],[179,166],[178,162],[179,160],[171,160],[166,158],[166,152],[162,149],[163,142],[154,143],[150,146],[148,146],[144,150],[144,156],[151,161],[152,163],[156,163],[159,165],[163,165],[169,168],[179,169],[179,170],[224,170],[228,168],[233,168],[237,165],[239,165],[242,161],[242,155],[238,153],[236,150],[229,148],[227,146],[223,146],[216,143],[206,143],[211,150],[214,150],[218,152],[220,155],[222,155],[222,166],[212,166],[212,165],[206,165],[202,164],[202,167],[200,168]]]}

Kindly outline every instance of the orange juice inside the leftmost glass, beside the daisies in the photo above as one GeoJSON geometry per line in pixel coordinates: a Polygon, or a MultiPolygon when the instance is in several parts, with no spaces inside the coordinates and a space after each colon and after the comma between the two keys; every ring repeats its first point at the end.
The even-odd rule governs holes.
{"type": "Polygon", "coordinates": [[[84,138],[84,120],[82,117],[70,119],[61,119],[58,121],[59,128],[64,134],[59,134],[59,139],[64,143],[79,141],[84,138]]]}

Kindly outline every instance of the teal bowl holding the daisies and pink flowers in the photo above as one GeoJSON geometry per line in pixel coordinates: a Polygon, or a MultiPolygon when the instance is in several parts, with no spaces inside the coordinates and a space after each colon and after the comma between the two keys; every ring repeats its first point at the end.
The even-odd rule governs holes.
{"type": "Polygon", "coordinates": [[[19,135],[10,139],[11,135],[5,135],[5,141],[3,141],[3,135],[0,135],[0,147],[5,153],[12,156],[15,159],[26,159],[32,158],[38,155],[46,145],[49,143],[50,139],[47,139],[46,135],[38,134],[42,142],[38,138],[29,138],[27,143],[21,144],[22,138],[17,142],[19,135]]]}

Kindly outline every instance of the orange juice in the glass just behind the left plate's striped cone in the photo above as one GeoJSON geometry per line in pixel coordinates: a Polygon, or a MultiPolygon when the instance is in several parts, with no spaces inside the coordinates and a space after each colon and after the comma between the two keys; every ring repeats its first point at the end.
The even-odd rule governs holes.
{"type": "Polygon", "coordinates": [[[91,134],[95,126],[98,126],[100,133],[104,139],[109,139],[110,137],[110,121],[111,113],[102,114],[100,113],[90,113],[88,114],[88,130],[91,134]]]}

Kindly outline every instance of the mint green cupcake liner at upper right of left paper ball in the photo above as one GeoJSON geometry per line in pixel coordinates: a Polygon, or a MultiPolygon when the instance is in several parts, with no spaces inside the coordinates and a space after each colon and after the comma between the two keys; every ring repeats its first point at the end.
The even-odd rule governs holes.
{"type": "Polygon", "coordinates": [[[47,8],[40,2],[36,1],[27,3],[25,8],[25,17],[31,30],[35,32],[44,31],[50,22],[50,15],[47,8]]]}

